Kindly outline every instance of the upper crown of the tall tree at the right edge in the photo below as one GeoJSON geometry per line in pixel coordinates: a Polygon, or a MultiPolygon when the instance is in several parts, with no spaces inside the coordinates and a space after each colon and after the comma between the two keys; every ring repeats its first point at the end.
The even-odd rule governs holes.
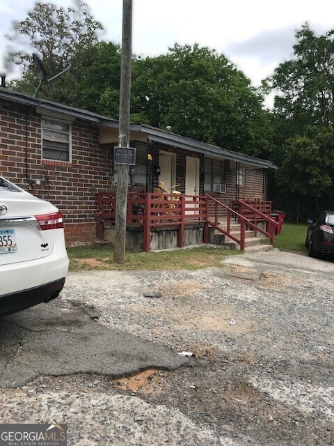
{"type": "MultiPolygon", "coordinates": [[[[334,125],[334,30],[315,36],[308,23],[296,31],[294,59],[281,63],[264,86],[277,90],[274,111],[295,133],[305,125],[334,125]]],[[[267,90],[268,91],[268,90],[267,90]]]]}

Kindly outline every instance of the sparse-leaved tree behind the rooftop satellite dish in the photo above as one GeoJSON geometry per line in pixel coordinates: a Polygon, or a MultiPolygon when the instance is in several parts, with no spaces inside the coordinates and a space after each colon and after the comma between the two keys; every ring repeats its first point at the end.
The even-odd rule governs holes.
{"type": "Polygon", "coordinates": [[[6,36],[10,42],[8,65],[23,67],[22,79],[14,83],[15,89],[33,94],[38,86],[38,68],[32,59],[35,52],[41,57],[48,77],[72,63],[72,70],[45,84],[40,96],[65,104],[75,102],[77,86],[86,76],[101,29],[102,25],[81,1],[75,1],[67,10],[49,3],[35,3],[28,17],[14,22],[13,33],[6,36]]]}

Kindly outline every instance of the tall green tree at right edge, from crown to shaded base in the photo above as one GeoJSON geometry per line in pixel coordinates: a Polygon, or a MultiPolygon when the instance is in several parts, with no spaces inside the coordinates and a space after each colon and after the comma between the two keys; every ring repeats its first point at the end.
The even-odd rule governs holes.
{"type": "Polygon", "coordinates": [[[271,112],[271,160],[281,167],[269,195],[279,196],[279,206],[287,212],[293,198],[296,203],[302,200],[303,208],[311,200],[319,212],[333,195],[333,144],[330,139],[322,144],[319,136],[332,135],[334,123],[333,36],[333,30],[316,36],[303,24],[296,31],[293,59],[281,63],[262,83],[265,93],[277,92],[271,112]]]}

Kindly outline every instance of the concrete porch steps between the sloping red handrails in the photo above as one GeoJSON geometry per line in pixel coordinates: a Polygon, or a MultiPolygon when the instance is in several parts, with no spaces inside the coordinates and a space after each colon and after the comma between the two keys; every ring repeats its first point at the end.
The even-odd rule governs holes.
{"type": "MultiPolygon", "coordinates": [[[[221,222],[222,229],[226,229],[226,223],[221,222]]],[[[232,236],[240,238],[240,224],[230,224],[230,233],[232,236]]],[[[255,231],[245,231],[245,252],[270,251],[273,246],[264,243],[265,238],[255,237],[255,231]]],[[[240,250],[240,245],[234,242],[232,238],[226,237],[220,231],[214,231],[214,244],[228,247],[230,249],[240,250]]]]}

